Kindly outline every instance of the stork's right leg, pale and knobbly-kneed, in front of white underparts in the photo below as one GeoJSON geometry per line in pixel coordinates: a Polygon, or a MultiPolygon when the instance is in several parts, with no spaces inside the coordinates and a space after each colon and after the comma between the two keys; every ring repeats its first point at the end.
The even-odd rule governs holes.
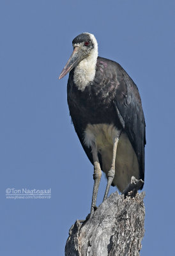
{"type": "Polygon", "coordinates": [[[114,179],[115,164],[116,164],[116,152],[117,152],[117,148],[118,148],[118,141],[119,141],[120,134],[121,134],[121,131],[119,132],[117,138],[114,141],[113,154],[112,154],[112,165],[111,165],[111,168],[110,168],[109,172],[107,173],[107,187],[106,187],[106,190],[105,190],[105,195],[103,197],[103,202],[107,198],[107,195],[109,193],[110,185],[112,184],[112,180],[114,179]]]}

